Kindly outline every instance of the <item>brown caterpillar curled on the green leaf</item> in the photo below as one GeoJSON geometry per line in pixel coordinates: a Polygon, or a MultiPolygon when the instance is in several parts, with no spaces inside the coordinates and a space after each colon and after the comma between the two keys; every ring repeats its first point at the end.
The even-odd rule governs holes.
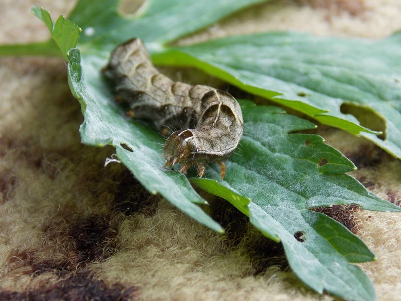
{"type": "Polygon", "coordinates": [[[139,39],[117,46],[104,72],[116,82],[116,100],[128,102],[130,116],[152,121],[163,134],[184,128],[167,138],[164,167],[180,163],[180,172],[185,174],[196,165],[202,177],[205,164],[215,161],[224,178],[224,160],[234,152],[243,132],[241,107],[233,96],[160,74],[139,39]]]}

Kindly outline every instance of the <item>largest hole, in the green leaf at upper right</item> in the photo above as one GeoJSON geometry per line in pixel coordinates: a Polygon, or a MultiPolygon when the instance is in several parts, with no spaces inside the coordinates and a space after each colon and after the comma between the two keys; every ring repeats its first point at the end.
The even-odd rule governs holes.
{"type": "Polygon", "coordinates": [[[360,125],[370,128],[371,130],[383,132],[377,137],[381,140],[385,140],[386,134],[386,122],[385,119],[376,114],[373,109],[353,103],[343,103],[340,107],[340,111],[343,114],[351,114],[358,119],[360,125]]]}

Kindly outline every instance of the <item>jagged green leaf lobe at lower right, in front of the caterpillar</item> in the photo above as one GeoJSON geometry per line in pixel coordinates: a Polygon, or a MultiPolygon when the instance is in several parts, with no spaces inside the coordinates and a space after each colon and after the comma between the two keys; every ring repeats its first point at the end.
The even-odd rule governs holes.
{"type": "MultiPolygon", "coordinates": [[[[312,128],[310,122],[276,107],[249,101],[242,101],[241,106],[244,137],[227,163],[225,180],[219,184],[192,178],[191,183],[224,197],[244,214],[239,196],[251,198],[247,214],[251,223],[283,243],[292,270],[314,290],[352,300],[374,299],[368,277],[348,263],[374,260],[374,254],[343,225],[309,209],[333,204],[357,204],[381,211],[401,209],[343,174],[353,170],[353,164],[324,144],[320,136],[290,133],[312,128]],[[320,166],[322,159],[327,163],[320,166]],[[297,234],[305,241],[298,241],[297,234]]],[[[218,168],[208,169],[206,176],[219,179],[218,168]]]]}

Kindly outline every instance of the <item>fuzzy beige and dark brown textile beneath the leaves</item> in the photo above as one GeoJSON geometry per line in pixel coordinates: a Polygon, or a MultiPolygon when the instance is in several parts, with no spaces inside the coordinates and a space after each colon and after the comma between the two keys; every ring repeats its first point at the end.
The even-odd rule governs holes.
{"type": "MultiPolygon", "coordinates": [[[[53,19],[74,5],[3,0],[0,43],[49,37],[30,13],[34,4],[53,19]]],[[[400,14],[399,0],[273,1],[179,43],[286,29],[376,39],[401,29],[400,14]]],[[[104,167],[113,149],[80,143],[83,118],[66,73],[61,59],[0,59],[0,300],[333,299],[303,285],[281,245],[227,202],[211,201],[212,217],[227,230],[216,234],[148,194],[122,165],[104,167]]],[[[352,175],[369,191],[401,202],[399,160],[334,128],[316,133],[355,163],[352,175]]],[[[378,257],[360,264],[378,299],[399,300],[401,216],[352,206],[322,211],[378,257]]]]}

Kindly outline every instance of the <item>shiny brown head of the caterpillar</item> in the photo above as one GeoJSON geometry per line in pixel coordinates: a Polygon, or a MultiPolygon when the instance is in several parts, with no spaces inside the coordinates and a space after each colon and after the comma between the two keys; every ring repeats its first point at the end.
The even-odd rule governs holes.
{"type": "Polygon", "coordinates": [[[167,160],[164,167],[187,162],[192,138],[193,134],[189,129],[177,130],[167,138],[163,150],[164,159],[167,160]]]}

